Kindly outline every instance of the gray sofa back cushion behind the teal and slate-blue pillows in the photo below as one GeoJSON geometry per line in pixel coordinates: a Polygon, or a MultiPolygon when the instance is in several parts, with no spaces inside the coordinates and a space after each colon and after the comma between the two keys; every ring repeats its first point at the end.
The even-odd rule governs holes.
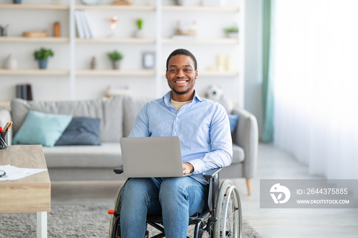
{"type": "Polygon", "coordinates": [[[76,117],[92,117],[101,120],[100,141],[119,142],[123,135],[122,97],[83,100],[83,101],[26,101],[13,99],[11,114],[13,118],[13,133],[16,134],[23,124],[29,110],[53,114],[71,114],[76,117]]]}

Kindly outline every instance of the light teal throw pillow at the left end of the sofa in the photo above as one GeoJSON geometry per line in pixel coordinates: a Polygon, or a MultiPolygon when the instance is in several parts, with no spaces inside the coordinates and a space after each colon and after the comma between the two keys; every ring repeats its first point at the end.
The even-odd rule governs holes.
{"type": "Polygon", "coordinates": [[[49,114],[30,110],[13,138],[13,144],[53,147],[70,124],[72,115],[49,114]]]}

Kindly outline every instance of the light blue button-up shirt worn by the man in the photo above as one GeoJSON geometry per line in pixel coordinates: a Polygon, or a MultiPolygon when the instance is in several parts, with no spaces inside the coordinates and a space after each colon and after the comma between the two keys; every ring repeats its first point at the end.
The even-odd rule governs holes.
{"type": "Polygon", "coordinates": [[[178,136],[182,161],[194,166],[192,177],[207,183],[203,173],[229,166],[232,161],[230,123],[225,109],[217,102],[194,93],[191,103],[177,111],[169,91],[163,98],[144,105],[128,137],[178,136]]]}

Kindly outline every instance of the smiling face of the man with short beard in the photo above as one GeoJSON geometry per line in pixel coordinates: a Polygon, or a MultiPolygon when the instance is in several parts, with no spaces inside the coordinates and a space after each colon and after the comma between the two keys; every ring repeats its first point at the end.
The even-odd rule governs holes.
{"type": "MultiPolygon", "coordinates": [[[[197,70],[194,68],[194,61],[190,56],[175,55],[169,59],[168,71],[165,77],[168,80],[170,89],[174,94],[185,95],[194,92],[197,70]]],[[[173,98],[173,100],[175,100],[173,98]]]]}

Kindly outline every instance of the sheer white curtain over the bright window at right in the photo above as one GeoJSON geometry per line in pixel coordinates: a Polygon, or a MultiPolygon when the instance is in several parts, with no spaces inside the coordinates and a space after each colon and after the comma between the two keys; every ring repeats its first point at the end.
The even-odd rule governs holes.
{"type": "Polygon", "coordinates": [[[273,0],[274,143],[358,179],[358,1],[273,0]]]}

